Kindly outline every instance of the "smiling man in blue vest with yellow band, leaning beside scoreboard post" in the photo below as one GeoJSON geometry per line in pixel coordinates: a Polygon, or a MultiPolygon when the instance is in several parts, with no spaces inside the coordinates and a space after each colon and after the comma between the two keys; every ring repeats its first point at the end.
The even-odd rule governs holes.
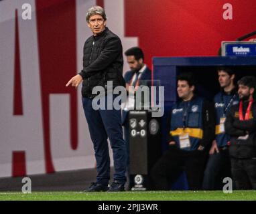
{"type": "Polygon", "coordinates": [[[194,94],[192,74],[178,76],[180,101],[170,113],[169,150],[155,163],[151,177],[155,188],[169,190],[182,171],[191,190],[202,188],[208,148],[214,139],[214,106],[194,94]]]}

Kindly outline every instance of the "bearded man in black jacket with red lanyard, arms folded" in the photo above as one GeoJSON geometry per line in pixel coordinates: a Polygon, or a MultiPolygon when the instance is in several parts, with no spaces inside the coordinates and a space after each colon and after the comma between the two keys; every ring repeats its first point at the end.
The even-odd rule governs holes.
{"type": "Polygon", "coordinates": [[[225,130],[231,135],[231,172],[237,189],[256,189],[256,79],[238,82],[239,104],[227,113],[225,130]]]}

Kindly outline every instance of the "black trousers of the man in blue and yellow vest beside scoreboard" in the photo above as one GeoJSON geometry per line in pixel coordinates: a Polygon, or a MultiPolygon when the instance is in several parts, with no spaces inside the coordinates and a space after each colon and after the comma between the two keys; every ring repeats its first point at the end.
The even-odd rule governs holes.
{"type": "Polygon", "coordinates": [[[186,151],[176,148],[176,146],[170,146],[151,169],[151,178],[155,183],[155,189],[170,190],[182,171],[186,172],[190,190],[202,189],[206,157],[205,150],[186,151]]]}

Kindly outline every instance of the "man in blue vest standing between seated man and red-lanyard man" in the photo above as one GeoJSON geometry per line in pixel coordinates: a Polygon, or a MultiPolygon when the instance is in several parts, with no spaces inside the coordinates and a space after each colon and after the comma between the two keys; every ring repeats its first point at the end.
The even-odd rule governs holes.
{"type": "Polygon", "coordinates": [[[229,134],[225,132],[225,120],[231,106],[239,102],[235,86],[235,72],[230,68],[218,68],[220,92],[214,96],[216,112],[215,139],[209,152],[208,163],[204,171],[203,189],[222,189],[223,179],[231,177],[231,160],[229,156],[229,134]]]}

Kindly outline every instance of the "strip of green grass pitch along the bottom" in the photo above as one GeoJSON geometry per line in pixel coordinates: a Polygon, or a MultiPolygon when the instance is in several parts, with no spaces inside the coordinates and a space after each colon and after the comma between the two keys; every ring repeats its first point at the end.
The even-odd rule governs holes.
{"type": "Polygon", "coordinates": [[[256,191],[0,192],[0,201],[256,201],[256,191]]]}

